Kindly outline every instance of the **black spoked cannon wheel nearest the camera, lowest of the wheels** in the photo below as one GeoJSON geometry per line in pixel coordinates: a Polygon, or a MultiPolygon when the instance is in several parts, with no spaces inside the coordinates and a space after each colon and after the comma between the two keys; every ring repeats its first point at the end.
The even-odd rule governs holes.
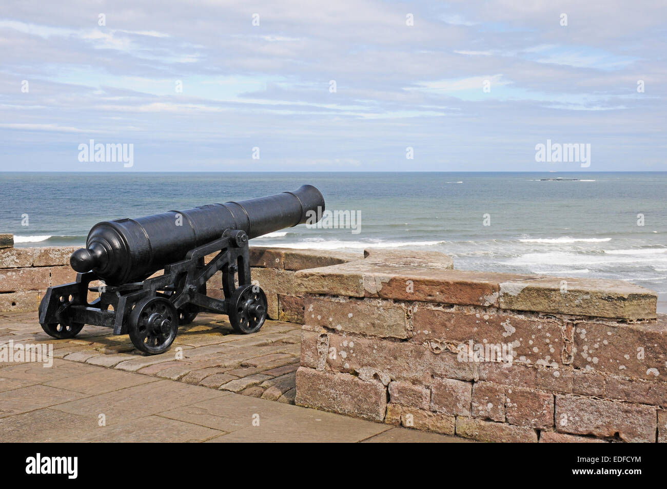
{"type": "Polygon", "coordinates": [[[164,353],[176,338],[178,319],[176,308],[167,298],[143,298],[129,316],[129,338],[142,352],[164,353]]]}

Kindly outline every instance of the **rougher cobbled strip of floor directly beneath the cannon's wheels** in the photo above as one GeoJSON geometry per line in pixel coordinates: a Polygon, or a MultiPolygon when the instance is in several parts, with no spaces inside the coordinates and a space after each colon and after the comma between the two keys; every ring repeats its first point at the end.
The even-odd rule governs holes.
{"type": "Polygon", "coordinates": [[[0,314],[0,344],[53,344],[53,356],[71,362],[137,372],[185,384],[294,404],[295,372],[301,352],[298,324],[269,321],[253,335],[235,334],[227,316],[199,314],[179,328],[171,349],[145,356],[129,336],[85,326],[76,338],[54,340],[35,320],[36,313],[0,314]]]}

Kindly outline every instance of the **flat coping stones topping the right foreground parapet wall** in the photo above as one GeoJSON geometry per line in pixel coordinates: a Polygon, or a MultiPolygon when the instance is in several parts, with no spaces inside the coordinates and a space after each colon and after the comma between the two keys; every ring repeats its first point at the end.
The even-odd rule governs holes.
{"type": "Polygon", "coordinates": [[[299,270],[299,294],[436,302],[621,320],[656,318],[658,294],[621,280],[452,270],[433,252],[378,252],[299,270]]]}

